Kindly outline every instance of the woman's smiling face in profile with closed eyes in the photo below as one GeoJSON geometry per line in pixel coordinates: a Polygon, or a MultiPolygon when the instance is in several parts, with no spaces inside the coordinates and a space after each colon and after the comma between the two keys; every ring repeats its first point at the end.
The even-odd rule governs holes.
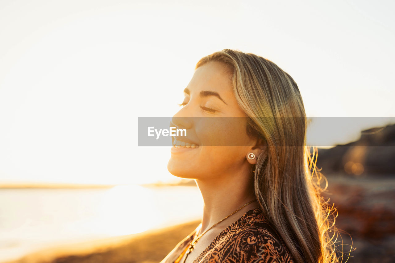
{"type": "Polygon", "coordinates": [[[247,171],[250,164],[246,154],[256,140],[246,133],[247,116],[237,104],[231,75],[223,64],[209,62],[197,68],[184,96],[172,126],[185,129],[186,136],[172,138],[169,172],[177,177],[208,180],[247,171]],[[192,147],[175,147],[177,141],[192,147]]]}

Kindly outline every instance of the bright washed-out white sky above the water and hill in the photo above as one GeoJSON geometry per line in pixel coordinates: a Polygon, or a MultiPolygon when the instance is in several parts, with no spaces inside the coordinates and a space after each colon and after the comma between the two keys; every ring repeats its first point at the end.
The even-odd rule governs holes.
{"type": "MultiPolygon", "coordinates": [[[[0,1],[0,182],[175,180],[137,120],[173,116],[198,60],[275,62],[308,117],[395,116],[393,1],[0,1]]],[[[372,119],[375,120],[375,119],[372,119]]]]}

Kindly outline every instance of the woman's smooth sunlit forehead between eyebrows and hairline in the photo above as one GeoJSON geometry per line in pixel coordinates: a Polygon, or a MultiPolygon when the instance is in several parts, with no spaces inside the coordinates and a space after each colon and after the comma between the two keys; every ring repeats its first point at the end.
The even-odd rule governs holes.
{"type": "Polygon", "coordinates": [[[211,90],[218,92],[222,97],[233,96],[231,75],[219,62],[209,62],[197,68],[188,89],[191,92],[211,90]]]}

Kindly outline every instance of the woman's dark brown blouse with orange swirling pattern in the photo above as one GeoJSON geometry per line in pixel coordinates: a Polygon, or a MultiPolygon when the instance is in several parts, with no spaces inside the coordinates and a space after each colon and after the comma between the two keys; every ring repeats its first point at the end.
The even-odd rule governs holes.
{"type": "MultiPolygon", "coordinates": [[[[200,225],[160,262],[174,263],[192,241],[200,225]]],[[[193,263],[293,263],[286,246],[263,216],[249,210],[224,229],[193,263]]]]}

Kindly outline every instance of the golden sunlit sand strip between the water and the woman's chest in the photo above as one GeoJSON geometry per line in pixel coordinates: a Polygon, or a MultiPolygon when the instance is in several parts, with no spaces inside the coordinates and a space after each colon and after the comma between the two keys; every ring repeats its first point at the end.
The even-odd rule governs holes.
{"type": "Polygon", "coordinates": [[[158,263],[199,223],[48,248],[8,263],[158,263]]]}

